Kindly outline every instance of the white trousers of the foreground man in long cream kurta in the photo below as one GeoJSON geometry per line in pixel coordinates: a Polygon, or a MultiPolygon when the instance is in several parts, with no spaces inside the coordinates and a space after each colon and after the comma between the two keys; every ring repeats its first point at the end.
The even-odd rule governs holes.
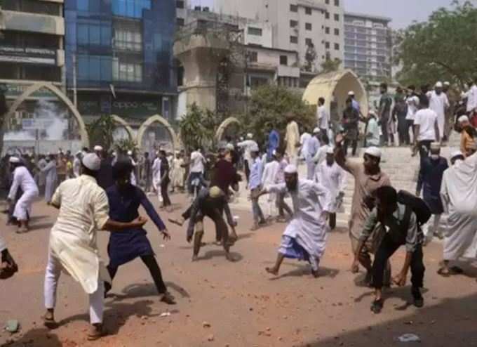
{"type": "MultiPolygon", "coordinates": [[[[48,264],[45,273],[45,307],[55,308],[56,289],[60,278],[62,266],[60,261],[54,256],[48,255],[48,264]]],[[[105,310],[105,284],[98,279],[98,289],[93,294],[89,294],[90,301],[90,322],[91,324],[102,323],[102,315],[105,310]]]]}

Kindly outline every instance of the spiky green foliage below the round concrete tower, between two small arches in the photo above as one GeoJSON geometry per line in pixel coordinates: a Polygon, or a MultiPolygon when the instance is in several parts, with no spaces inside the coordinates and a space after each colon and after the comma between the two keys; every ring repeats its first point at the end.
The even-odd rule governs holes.
{"type": "Polygon", "coordinates": [[[192,152],[196,148],[213,149],[215,132],[222,123],[222,117],[210,110],[201,110],[195,103],[179,122],[179,133],[184,149],[192,152]]]}

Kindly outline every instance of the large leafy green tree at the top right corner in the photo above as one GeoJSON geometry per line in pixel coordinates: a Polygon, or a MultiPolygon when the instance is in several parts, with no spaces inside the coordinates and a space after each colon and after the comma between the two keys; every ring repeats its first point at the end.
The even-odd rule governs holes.
{"type": "Polygon", "coordinates": [[[463,86],[477,72],[477,8],[469,1],[440,8],[427,22],[396,34],[394,64],[402,84],[432,84],[437,79],[463,86]]]}

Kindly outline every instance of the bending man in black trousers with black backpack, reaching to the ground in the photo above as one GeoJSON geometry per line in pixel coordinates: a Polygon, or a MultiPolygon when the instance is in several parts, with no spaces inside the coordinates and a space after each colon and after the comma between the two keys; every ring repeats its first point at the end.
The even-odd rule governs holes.
{"type": "Polygon", "coordinates": [[[372,210],[370,216],[366,220],[359,244],[354,254],[352,273],[358,273],[359,257],[366,240],[375,230],[378,223],[389,231],[384,233],[382,241],[377,247],[375,261],[372,263],[372,287],[375,288],[375,300],[372,302],[371,310],[374,313],[380,313],[384,300],[382,299],[382,287],[384,271],[389,258],[405,244],[406,255],[403,269],[393,282],[399,287],[405,286],[408,277],[409,268],[411,269],[411,294],[414,298],[414,305],[418,308],[424,306],[421,288],[424,281],[424,263],[422,262],[422,243],[424,242],[424,234],[422,233],[417,216],[412,208],[398,202],[398,194],[396,190],[390,186],[382,186],[377,188],[374,193],[375,209],[372,210]]]}

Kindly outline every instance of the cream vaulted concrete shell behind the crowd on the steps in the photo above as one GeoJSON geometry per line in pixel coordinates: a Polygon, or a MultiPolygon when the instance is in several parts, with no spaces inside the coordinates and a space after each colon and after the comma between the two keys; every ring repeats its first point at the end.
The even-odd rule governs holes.
{"type": "Polygon", "coordinates": [[[365,115],[368,114],[368,93],[366,93],[366,89],[359,77],[351,70],[319,74],[308,84],[307,89],[303,93],[303,100],[310,105],[316,105],[318,98],[323,97],[328,110],[331,108],[332,114],[334,113],[333,110],[335,110],[338,117],[341,117],[342,111],[346,107],[349,91],[354,91],[355,98],[361,107],[361,112],[365,115]],[[332,100],[335,100],[333,107],[331,107],[332,100]]]}

